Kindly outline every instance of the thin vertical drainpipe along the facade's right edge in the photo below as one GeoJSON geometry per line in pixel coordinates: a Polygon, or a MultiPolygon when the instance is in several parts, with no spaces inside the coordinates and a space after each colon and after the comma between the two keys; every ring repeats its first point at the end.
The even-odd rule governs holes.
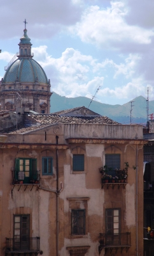
{"type": "Polygon", "coordinates": [[[138,157],[136,144],[136,256],[138,255],[138,157]]]}

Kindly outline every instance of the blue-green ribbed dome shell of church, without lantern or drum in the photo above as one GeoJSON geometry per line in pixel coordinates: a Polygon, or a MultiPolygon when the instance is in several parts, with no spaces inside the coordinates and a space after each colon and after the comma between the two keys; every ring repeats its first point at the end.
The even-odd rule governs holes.
{"type": "Polygon", "coordinates": [[[4,83],[48,83],[45,71],[38,62],[32,58],[18,58],[4,74],[4,83]]]}

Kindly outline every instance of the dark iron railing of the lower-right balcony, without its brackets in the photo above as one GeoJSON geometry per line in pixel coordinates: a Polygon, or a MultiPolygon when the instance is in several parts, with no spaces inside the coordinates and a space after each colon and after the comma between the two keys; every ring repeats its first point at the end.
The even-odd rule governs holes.
{"type": "Polygon", "coordinates": [[[115,233],[115,234],[102,234],[100,233],[100,245],[102,247],[125,247],[130,246],[130,232],[115,233]]]}

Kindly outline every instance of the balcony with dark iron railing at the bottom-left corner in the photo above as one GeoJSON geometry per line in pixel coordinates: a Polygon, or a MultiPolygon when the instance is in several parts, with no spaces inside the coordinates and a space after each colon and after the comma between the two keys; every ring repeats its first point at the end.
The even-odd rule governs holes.
{"type": "Polygon", "coordinates": [[[42,254],[40,251],[40,237],[6,238],[5,255],[20,253],[42,254]]]}

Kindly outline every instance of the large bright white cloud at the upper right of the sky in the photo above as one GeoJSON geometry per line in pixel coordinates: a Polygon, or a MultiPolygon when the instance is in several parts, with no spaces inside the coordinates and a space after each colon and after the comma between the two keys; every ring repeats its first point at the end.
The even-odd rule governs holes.
{"type": "Polygon", "coordinates": [[[70,30],[80,36],[83,42],[99,47],[125,49],[128,44],[150,44],[153,31],[127,24],[125,17],[128,12],[129,8],[120,1],[111,2],[111,6],[106,9],[90,6],[83,12],[81,22],[70,30]]]}

